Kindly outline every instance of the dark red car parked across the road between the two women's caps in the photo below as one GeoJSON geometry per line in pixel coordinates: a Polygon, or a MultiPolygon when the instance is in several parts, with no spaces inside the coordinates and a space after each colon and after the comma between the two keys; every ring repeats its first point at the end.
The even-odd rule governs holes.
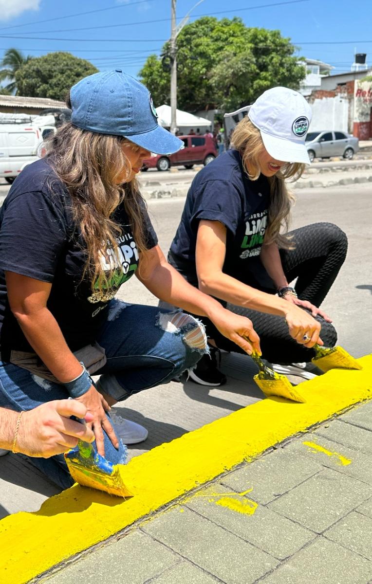
{"type": "Polygon", "coordinates": [[[193,168],[194,164],[208,164],[218,155],[217,147],[210,136],[179,136],[185,146],[175,154],[151,154],[145,158],[142,171],[157,168],[158,171],[168,171],[170,166],[182,164],[185,168],[193,168]]]}

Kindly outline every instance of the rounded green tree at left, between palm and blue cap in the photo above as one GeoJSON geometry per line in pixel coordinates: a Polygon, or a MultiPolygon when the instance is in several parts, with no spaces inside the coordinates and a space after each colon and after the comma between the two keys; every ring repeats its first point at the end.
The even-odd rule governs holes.
{"type": "Polygon", "coordinates": [[[72,85],[96,72],[98,69],[92,63],[71,53],[48,53],[43,57],[34,57],[16,71],[18,95],[64,99],[72,85]]]}

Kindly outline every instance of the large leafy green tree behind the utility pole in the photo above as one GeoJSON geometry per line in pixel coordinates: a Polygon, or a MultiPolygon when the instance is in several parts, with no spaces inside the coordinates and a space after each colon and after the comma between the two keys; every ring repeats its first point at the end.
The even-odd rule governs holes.
{"type": "MultiPolygon", "coordinates": [[[[178,106],[237,109],[276,85],[298,89],[305,68],[279,30],[249,28],[240,18],[206,16],[177,37],[178,106]]],[[[162,54],[169,55],[169,43],[162,54]]],[[[165,58],[169,62],[169,58],[165,58]]],[[[155,104],[169,103],[170,74],[162,58],[150,55],[140,71],[155,104]]]]}

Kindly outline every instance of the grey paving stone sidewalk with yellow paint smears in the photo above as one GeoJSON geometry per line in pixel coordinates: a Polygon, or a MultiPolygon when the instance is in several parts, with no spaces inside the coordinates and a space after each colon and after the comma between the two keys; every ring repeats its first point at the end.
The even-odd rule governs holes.
{"type": "Polygon", "coordinates": [[[372,582],[372,402],[218,477],[37,582],[372,582]]]}

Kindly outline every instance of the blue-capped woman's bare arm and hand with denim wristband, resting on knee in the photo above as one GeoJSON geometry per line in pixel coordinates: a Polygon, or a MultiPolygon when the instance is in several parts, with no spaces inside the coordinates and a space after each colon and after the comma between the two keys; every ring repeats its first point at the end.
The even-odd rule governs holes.
{"type": "MultiPolygon", "coordinates": [[[[69,350],[60,326],[47,308],[51,284],[13,272],[6,272],[5,279],[11,311],[35,353],[61,383],[77,378],[82,373],[81,364],[69,350]]],[[[106,417],[109,405],[94,385],[77,401],[82,402],[93,414],[91,426],[99,454],[105,454],[102,427],[114,446],[118,447],[119,443],[106,417]]]]}

